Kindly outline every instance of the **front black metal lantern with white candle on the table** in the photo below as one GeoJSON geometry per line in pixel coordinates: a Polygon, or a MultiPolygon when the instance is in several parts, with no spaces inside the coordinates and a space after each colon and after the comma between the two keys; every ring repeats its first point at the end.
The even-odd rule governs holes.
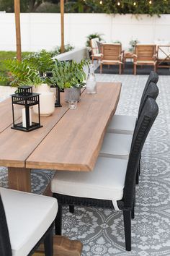
{"type": "MultiPolygon", "coordinates": [[[[30,132],[42,127],[40,125],[40,98],[39,93],[32,93],[31,86],[22,86],[17,93],[12,94],[13,127],[23,132],[30,132]],[[36,106],[37,105],[37,106],[36,106]],[[32,116],[32,106],[37,107],[37,115],[32,116]],[[19,121],[19,113],[22,111],[22,121],[19,121]]],[[[21,115],[20,115],[21,116],[21,115]]]]}

